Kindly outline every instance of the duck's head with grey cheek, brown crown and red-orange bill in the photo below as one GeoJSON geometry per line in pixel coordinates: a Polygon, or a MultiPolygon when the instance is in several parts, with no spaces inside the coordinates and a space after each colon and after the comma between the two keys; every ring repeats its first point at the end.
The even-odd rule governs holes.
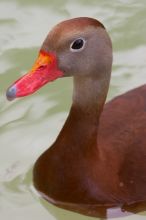
{"type": "Polygon", "coordinates": [[[104,26],[93,18],[74,18],[48,34],[30,72],[7,90],[8,100],[34,93],[60,77],[109,78],[112,46],[104,26]],[[107,74],[107,76],[106,76],[107,74]]]}

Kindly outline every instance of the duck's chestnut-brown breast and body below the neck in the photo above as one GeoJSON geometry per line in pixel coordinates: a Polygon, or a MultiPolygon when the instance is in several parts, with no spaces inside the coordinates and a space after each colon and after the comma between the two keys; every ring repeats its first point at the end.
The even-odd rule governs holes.
{"type": "Polygon", "coordinates": [[[72,204],[73,210],[146,201],[145,100],[146,86],[141,86],[108,102],[95,134],[72,107],[56,142],[36,162],[38,191],[56,205],[71,209],[72,204]]]}

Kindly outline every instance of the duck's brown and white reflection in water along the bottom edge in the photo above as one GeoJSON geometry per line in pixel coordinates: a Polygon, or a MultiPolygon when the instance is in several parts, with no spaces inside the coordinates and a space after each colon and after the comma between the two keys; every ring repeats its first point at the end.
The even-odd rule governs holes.
{"type": "MultiPolygon", "coordinates": [[[[57,220],[93,220],[95,219],[94,217],[96,217],[96,219],[111,219],[111,218],[121,218],[121,217],[127,217],[126,219],[131,219],[134,216],[134,214],[137,215],[137,218],[140,218],[140,216],[146,216],[146,212],[144,212],[144,210],[146,209],[146,203],[139,203],[139,204],[133,204],[133,205],[126,205],[121,207],[117,207],[117,208],[108,208],[106,209],[101,208],[98,209],[97,212],[93,212],[92,210],[89,213],[91,215],[91,213],[93,214],[93,217],[89,217],[89,216],[84,216],[84,215],[80,215],[71,211],[67,211],[61,208],[58,208],[54,205],[49,204],[46,200],[41,199],[40,198],[40,203],[45,207],[45,209],[47,209],[49,211],[49,213],[51,213],[55,219],[57,220]],[[143,213],[140,213],[143,212],[143,213]],[[138,214],[139,213],[139,214],[138,214]]],[[[84,214],[84,213],[82,213],[84,214]]],[[[125,219],[125,218],[124,218],[125,219]]],[[[126,220],[125,219],[125,220],[126,220]]]]}

